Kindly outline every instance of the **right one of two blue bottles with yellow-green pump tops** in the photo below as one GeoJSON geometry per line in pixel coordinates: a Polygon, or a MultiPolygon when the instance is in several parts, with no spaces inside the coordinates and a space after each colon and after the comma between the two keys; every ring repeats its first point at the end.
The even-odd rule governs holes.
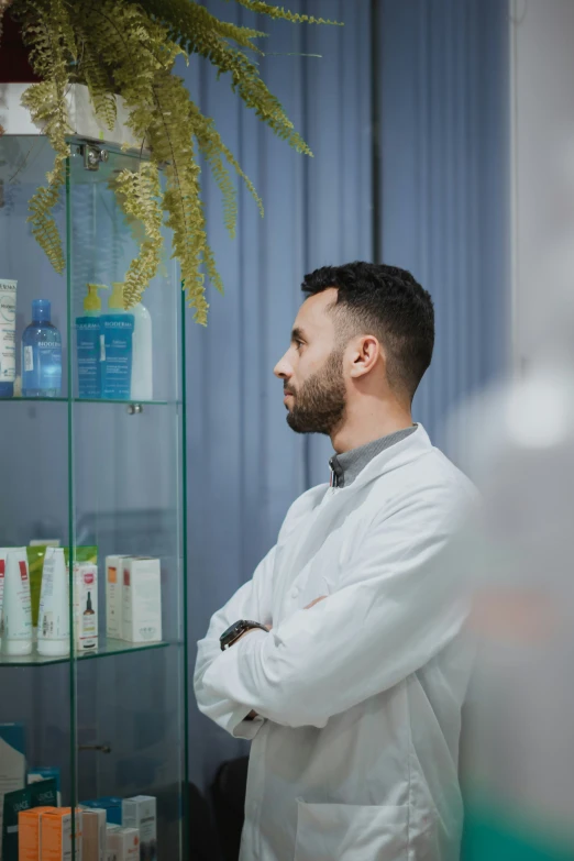
{"type": "Polygon", "coordinates": [[[103,334],[102,397],[129,400],[132,380],[133,313],[123,303],[123,284],[112,285],[108,313],[101,316],[103,334]]]}

